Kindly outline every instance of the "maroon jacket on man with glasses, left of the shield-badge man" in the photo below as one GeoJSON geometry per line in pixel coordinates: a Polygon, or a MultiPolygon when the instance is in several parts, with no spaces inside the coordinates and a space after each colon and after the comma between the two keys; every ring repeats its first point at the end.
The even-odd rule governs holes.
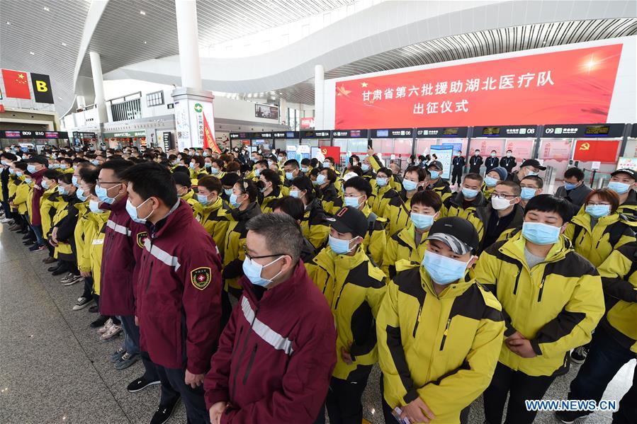
{"type": "Polygon", "coordinates": [[[122,197],[113,205],[102,203],[101,207],[111,210],[106,221],[106,234],[102,253],[99,309],[102,315],[135,314],[135,290],[133,271],[133,234],[144,227],[133,222],[126,212],[126,200],[122,197]]]}

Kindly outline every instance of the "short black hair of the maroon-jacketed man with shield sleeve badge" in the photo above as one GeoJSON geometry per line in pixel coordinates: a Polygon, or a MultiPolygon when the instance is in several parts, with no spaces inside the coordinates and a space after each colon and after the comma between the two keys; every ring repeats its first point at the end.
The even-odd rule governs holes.
{"type": "Polygon", "coordinates": [[[144,162],[126,169],[121,177],[133,185],[133,191],[147,200],[157,197],[167,207],[177,202],[177,188],[171,172],[155,162],[144,162]]]}

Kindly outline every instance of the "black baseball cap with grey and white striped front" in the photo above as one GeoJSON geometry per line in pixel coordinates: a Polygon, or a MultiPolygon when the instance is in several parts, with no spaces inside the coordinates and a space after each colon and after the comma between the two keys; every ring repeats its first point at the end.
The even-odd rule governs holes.
{"type": "Polygon", "coordinates": [[[427,240],[438,240],[445,243],[456,255],[464,255],[470,251],[478,251],[478,231],[473,224],[460,217],[438,219],[429,229],[427,240]]]}

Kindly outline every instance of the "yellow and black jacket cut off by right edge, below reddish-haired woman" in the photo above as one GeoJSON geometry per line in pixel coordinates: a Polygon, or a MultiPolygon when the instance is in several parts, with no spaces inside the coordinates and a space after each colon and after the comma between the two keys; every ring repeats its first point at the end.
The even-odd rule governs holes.
{"type": "Polygon", "coordinates": [[[606,302],[599,326],[624,348],[637,353],[637,243],[613,251],[597,270],[606,302]]]}

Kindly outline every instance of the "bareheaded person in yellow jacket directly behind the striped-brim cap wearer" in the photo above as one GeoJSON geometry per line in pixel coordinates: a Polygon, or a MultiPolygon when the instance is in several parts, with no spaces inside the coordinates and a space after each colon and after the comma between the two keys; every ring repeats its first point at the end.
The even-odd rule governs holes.
{"type": "Polygon", "coordinates": [[[438,219],[442,201],[433,190],[419,191],[412,197],[410,224],[387,241],[382,270],[390,278],[396,275],[396,263],[410,260],[419,263],[427,249],[427,233],[438,219]]]}

